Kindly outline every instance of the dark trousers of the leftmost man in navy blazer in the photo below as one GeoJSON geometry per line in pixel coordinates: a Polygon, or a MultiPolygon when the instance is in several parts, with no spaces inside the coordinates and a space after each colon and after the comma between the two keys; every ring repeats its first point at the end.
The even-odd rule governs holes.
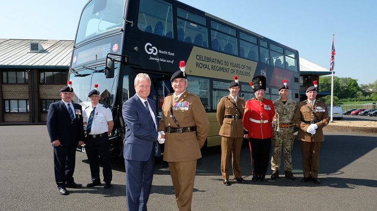
{"type": "Polygon", "coordinates": [[[54,147],[54,172],[58,187],[65,187],[65,183],[73,182],[75,170],[76,146],[61,145],[54,147]]]}

